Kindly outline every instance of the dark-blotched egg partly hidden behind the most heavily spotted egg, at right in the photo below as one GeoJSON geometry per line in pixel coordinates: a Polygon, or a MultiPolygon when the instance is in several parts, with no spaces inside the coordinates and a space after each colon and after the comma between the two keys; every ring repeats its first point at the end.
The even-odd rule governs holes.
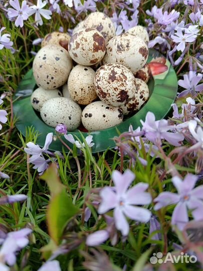
{"type": "Polygon", "coordinates": [[[139,78],[135,78],[135,80],[136,91],[134,96],[131,99],[128,99],[124,105],[120,106],[124,115],[139,110],[149,98],[149,89],[147,84],[139,78]]]}

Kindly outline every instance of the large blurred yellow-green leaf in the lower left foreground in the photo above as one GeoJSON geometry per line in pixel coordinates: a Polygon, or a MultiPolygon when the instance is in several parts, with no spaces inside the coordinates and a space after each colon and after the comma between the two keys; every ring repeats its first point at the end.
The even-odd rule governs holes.
{"type": "Polygon", "coordinates": [[[47,222],[49,234],[57,244],[69,219],[78,211],[79,208],[73,205],[65,189],[51,199],[47,211],[47,222]]]}

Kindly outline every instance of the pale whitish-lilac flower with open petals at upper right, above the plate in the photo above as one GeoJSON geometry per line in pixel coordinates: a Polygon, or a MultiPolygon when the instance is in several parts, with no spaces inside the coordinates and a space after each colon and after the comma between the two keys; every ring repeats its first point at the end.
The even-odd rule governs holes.
{"type": "Polygon", "coordinates": [[[182,34],[181,29],[177,29],[177,32],[174,35],[171,35],[171,39],[178,43],[177,45],[177,51],[183,52],[185,49],[185,42],[194,42],[196,40],[196,34],[182,34]]]}

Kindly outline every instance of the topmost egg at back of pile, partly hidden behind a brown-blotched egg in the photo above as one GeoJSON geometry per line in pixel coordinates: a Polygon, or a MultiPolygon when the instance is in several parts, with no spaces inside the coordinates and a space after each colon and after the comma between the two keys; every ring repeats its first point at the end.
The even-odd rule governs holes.
{"type": "Polygon", "coordinates": [[[108,42],[116,36],[116,30],[111,19],[102,12],[91,13],[84,21],[86,28],[96,28],[108,42]]]}

